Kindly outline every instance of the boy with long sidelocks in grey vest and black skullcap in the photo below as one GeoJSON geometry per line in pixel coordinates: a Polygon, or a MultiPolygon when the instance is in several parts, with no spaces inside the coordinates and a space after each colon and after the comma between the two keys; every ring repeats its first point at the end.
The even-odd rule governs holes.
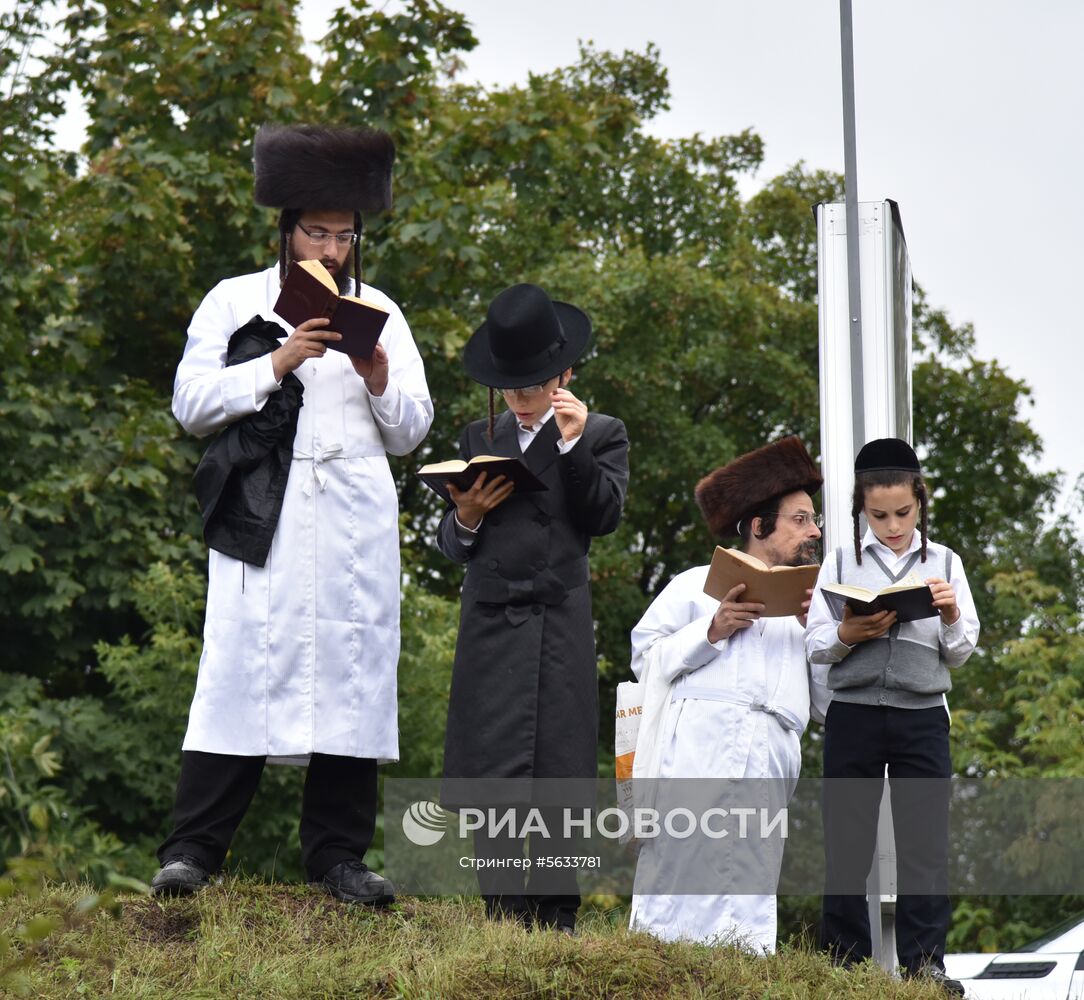
{"type": "Polygon", "coordinates": [[[918,458],[896,438],[866,444],[854,463],[854,546],[828,554],[810,608],[805,652],[814,683],[831,691],[825,719],[826,885],[821,940],[837,962],[872,956],[866,875],[886,769],[896,841],[896,951],[905,975],[952,993],[944,975],[951,906],[949,711],[951,672],[975,649],[979,620],[960,559],[927,535],[928,494],[918,458]],[[868,528],[863,534],[859,515],[868,528]],[[880,590],[926,584],[935,614],[833,616],[824,584],[880,590]],[[840,781],[836,779],[857,779],[840,781]]]}

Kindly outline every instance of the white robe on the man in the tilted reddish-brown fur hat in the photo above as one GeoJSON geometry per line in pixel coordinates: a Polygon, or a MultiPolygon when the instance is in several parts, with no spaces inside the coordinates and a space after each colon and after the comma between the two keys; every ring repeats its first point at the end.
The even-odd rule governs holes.
{"type": "MultiPolygon", "coordinates": [[[[675,576],[632,632],[636,676],[645,653],[656,647],[660,654],[653,658],[655,665],[671,681],[671,702],[658,736],[656,805],[664,814],[668,803],[702,798],[705,789],[714,787],[708,782],[719,779],[773,779],[750,782],[743,791],[765,804],[772,800],[785,805],[798,780],[799,738],[810,716],[804,632],[793,618],[761,619],[728,639],[709,642],[708,626],[719,602],[704,593],[707,573],[705,566],[675,576]],[[689,782],[685,790],[673,779],[704,780],[689,782]]],[[[637,746],[637,757],[640,752],[637,746]]],[[[718,788],[724,795],[724,787],[718,788]]],[[[740,848],[733,840],[645,840],[631,925],[667,940],[734,943],[772,951],[774,892],[711,894],[711,888],[737,882],[771,884],[774,889],[782,861],[777,840],[740,848]],[[735,866],[743,870],[736,872],[735,866]]]]}

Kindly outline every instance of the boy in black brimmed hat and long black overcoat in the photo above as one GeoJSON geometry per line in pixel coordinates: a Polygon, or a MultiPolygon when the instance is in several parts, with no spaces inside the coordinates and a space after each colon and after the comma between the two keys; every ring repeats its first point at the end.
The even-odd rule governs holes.
{"type": "MultiPolygon", "coordinates": [[[[591,336],[575,306],[537,285],[514,285],[490,304],[464,351],[467,375],[491,388],[490,419],[470,424],[461,456],[521,458],[546,489],[513,493],[480,475],[452,505],[440,550],[466,563],[444,744],[446,806],[557,806],[597,776],[598,671],[588,551],[612,532],[629,482],[629,439],[616,417],[589,413],[569,390],[572,364],[591,336]],[[492,390],[507,410],[494,418],[492,390]],[[559,779],[572,779],[562,782],[559,779]]],[[[590,804],[589,802],[589,804],[590,804]]],[[[571,804],[571,803],[570,803],[571,804]]],[[[520,815],[520,819],[522,816],[520,815]]],[[[583,854],[562,842],[560,809],[550,837],[530,839],[533,859],[583,854]]],[[[478,831],[486,913],[572,933],[576,872],[524,860],[517,835],[478,831]]]]}

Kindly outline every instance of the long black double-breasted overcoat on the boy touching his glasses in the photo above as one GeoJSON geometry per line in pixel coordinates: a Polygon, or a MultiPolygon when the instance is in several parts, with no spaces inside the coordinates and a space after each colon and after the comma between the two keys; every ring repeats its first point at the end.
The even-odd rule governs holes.
{"type": "Polygon", "coordinates": [[[498,417],[492,442],[486,427],[479,420],[463,432],[464,459],[522,456],[549,489],[513,494],[469,547],[455,533],[454,507],[440,522],[440,550],[467,564],[444,743],[449,806],[480,802],[473,782],[457,779],[502,779],[486,797],[524,802],[535,778],[596,777],[588,551],[592,537],[617,528],[629,482],[629,439],[616,417],[589,413],[564,455],[553,417],[526,453],[511,411],[498,417]]]}

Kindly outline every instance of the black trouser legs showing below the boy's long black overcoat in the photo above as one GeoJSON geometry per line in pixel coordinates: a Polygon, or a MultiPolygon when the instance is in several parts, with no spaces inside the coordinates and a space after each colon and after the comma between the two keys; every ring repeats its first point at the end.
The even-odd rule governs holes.
{"type": "MultiPolygon", "coordinates": [[[[526,808],[517,810],[517,828],[525,820],[526,808]]],[[[563,835],[564,810],[540,808],[539,814],[551,834],[529,834],[526,837],[501,833],[490,836],[483,829],[475,830],[475,858],[496,862],[478,869],[478,888],[486,902],[486,915],[500,920],[518,920],[526,926],[576,926],[580,908],[576,869],[560,861],[584,852],[575,836],[563,835]],[[524,846],[528,846],[525,856],[524,846]],[[529,868],[513,861],[529,858],[529,868]]]]}

